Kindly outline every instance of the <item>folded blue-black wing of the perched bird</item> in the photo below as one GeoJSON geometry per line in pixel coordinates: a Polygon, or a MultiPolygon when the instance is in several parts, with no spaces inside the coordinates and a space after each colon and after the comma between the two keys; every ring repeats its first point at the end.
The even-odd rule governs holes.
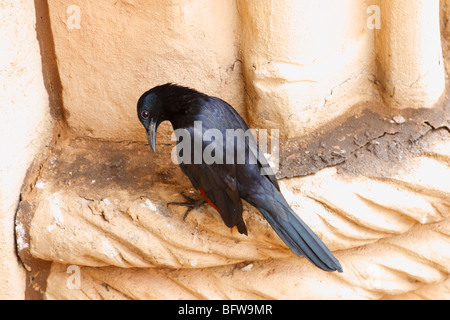
{"type": "MultiPolygon", "coordinates": [[[[189,177],[194,187],[197,190],[203,191],[207,199],[215,205],[228,227],[236,226],[239,232],[246,234],[247,230],[242,220],[242,202],[238,190],[238,179],[236,177],[236,157],[238,151],[236,146],[234,146],[235,161],[232,164],[227,163],[226,130],[242,129],[246,132],[249,128],[239,114],[228,103],[219,98],[208,97],[197,103],[193,104],[192,115],[195,121],[201,121],[202,123],[202,136],[197,137],[197,141],[202,141],[201,151],[203,152],[207,147],[210,150],[222,149],[223,161],[222,163],[206,164],[205,159],[202,157],[202,162],[195,164],[193,157],[191,159],[192,164],[180,164],[181,170],[189,177]],[[195,108],[197,103],[201,104],[201,108],[195,108]],[[221,132],[223,138],[221,140],[222,144],[218,144],[216,140],[205,141],[203,139],[203,134],[208,129],[215,129],[221,132]]],[[[194,137],[191,150],[195,153],[195,134],[198,134],[198,132],[193,127],[185,129],[188,129],[191,137],[194,137]]],[[[246,135],[246,137],[245,149],[249,150],[249,155],[257,159],[257,163],[245,165],[256,165],[259,170],[264,168],[265,177],[279,190],[275,175],[264,158],[264,155],[260,152],[253,136],[250,134],[246,135]]]]}

